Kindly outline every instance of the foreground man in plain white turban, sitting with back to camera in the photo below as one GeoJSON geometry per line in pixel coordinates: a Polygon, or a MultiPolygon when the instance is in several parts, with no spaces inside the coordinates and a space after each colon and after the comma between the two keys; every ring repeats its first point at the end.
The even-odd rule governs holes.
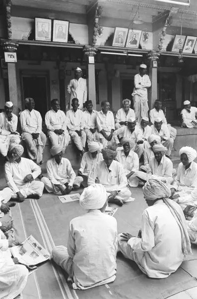
{"type": "Polygon", "coordinates": [[[87,213],[70,221],[67,248],[55,247],[52,257],[73,289],[86,290],[116,279],[117,221],[104,214],[107,192],[101,184],[85,188],[79,204],[87,213]]]}

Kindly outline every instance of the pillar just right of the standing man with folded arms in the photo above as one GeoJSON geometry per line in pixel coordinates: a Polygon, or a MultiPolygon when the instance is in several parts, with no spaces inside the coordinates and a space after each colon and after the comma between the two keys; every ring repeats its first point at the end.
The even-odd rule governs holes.
{"type": "Polygon", "coordinates": [[[157,99],[157,60],[159,59],[159,53],[152,50],[147,56],[150,60],[149,77],[151,81],[151,87],[148,92],[148,106],[149,109],[154,108],[154,102],[157,99]]]}

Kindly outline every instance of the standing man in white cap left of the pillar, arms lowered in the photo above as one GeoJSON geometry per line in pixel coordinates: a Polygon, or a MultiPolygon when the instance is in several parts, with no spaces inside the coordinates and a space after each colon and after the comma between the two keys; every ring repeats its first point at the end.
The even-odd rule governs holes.
{"type": "Polygon", "coordinates": [[[72,99],[77,98],[79,100],[79,109],[84,108],[85,101],[87,100],[87,82],[86,79],[82,78],[82,70],[77,67],[74,72],[74,79],[71,79],[68,86],[67,92],[70,94],[70,109],[72,108],[72,99]]]}

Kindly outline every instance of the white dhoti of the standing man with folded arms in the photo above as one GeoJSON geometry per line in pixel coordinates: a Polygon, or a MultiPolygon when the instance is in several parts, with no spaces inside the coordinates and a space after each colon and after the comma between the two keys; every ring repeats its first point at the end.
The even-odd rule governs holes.
{"type": "Polygon", "coordinates": [[[133,109],[136,122],[140,123],[143,117],[148,117],[148,99],[139,95],[133,96],[133,109]]]}

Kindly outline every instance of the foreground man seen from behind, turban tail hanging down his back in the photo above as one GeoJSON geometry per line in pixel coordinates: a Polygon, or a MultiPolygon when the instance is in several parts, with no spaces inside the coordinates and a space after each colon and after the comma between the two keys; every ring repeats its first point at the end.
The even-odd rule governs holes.
{"type": "Polygon", "coordinates": [[[141,231],[138,237],[120,234],[119,249],[148,277],[166,278],[192,253],[186,220],[180,206],[169,199],[169,185],[161,180],[150,179],[143,194],[148,208],[142,214],[141,231]]]}

